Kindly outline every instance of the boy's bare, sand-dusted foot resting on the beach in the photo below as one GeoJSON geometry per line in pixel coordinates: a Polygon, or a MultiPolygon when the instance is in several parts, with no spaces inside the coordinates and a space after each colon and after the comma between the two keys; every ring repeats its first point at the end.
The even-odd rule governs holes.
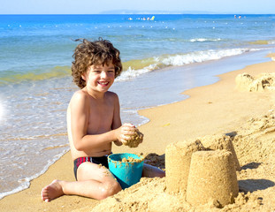
{"type": "Polygon", "coordinates": [[[62,181],[55,179],[50,185],[42,188],[42,201],[52,201],[64,195],[62,181]]]}

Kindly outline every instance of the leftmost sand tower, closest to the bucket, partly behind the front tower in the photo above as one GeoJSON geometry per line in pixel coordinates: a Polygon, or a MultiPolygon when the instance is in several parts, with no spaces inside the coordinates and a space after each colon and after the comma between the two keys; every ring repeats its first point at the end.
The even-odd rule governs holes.
{"type": "Polygon", "coordinates": [[[186,193],[191,156],[203,150],[200,141],[176,142],[165,150],[166,191],[168,193],[186,193]]]}

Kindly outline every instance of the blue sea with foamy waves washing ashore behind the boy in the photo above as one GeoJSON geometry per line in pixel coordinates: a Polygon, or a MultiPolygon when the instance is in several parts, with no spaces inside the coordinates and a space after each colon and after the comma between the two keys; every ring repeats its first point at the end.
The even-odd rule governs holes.
{"type": "Polygon", "coordinates": [[[124,69],[111,91],[122,122],[143,125],[149,119],[138,110],[182,101],[183,91],[215,83],[218,74],[271,61],[275,15],[0,15],[0,199],[69,151],[75,40],[99,37],[121,52],[124,69]]]}

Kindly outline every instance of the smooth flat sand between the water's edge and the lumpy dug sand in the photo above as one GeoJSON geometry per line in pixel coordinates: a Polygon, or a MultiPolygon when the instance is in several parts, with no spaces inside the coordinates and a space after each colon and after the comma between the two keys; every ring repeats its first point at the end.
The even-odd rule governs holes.
{"type": "MultiPolygon", "coordinates": [[[[230,133],[237,130],[237,126],[243,125],[249,117],[264,115],[267,110],[271,110],[272,107],[274,109],[275,102],[274,99],[270,101],[270,92],[248,93],[248,95],[235,90],[235,76],[242,72],[250,72],[252,75],[262,73],[264,70],[274,72],[274,67],[275,62],[271,61],[226,72],[218,75],[219,80],[214,84],[185,91],[183,94],[188,95],[189,98],[183,101],[140,110],[139,114],[150,120],[147,124],[139,127],[145,134],[144,144],[138,149],[114,147],[114,152],[131,151],[162,155],[167,144],[173,141],[195,139],[214,133],[230,133]],[[235,101],[233,108],[229,108],[228,104],[233,101],[235,101]],[[256,105],[253,102],[256,102],[256,105]],[[251,104],[252,106],[248,107],[251,104]],[[176,117],[177,114],[178,117],[176,117]],[[180,116],[181,114],[186,116],[180,116]],[[169,138],[173,138],[173,140],[169,138]]],[[[91,209],[98,203],[98,201],[77,196],[63,196],[50,203],[42,202],[41,189],[50,184],[54,178],[74,180],[70,152],[52,164],[42,176],[32,180],[29,188],[0,200],[1,208],[4,208],[4,211],[18,211],[19,208],[20,211],[56,211],[57,209],[58,211],[72,211],[87,207],[87,205],[91,209]],[[17,200],[16,203],[14,200],[17,200]]],[[[88,210],[80,209],[79,211],[88,210]]]]}

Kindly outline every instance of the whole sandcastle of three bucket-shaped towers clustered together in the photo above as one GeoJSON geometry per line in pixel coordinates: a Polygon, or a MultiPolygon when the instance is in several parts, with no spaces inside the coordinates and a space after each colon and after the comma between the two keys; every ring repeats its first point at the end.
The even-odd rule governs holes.
{"type": "Polygon", "coordinates": [[[165,151],[166,192],[182,195],[191,205],[233,203],[240,163],[226,135],[176,142],[165,151]]]}

